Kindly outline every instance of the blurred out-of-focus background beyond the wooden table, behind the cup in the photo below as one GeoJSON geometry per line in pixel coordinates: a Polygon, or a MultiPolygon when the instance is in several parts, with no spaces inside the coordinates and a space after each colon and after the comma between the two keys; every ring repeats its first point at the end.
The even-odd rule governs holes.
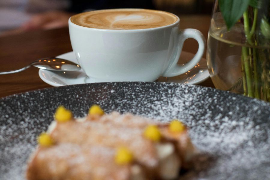
{"type": "Polygon", "coordinates": [[[67,27],[75,13],[109,8],[147,8],[176,15],[211,14],[214,0],[0,0],[0,36],[67,27]]]}

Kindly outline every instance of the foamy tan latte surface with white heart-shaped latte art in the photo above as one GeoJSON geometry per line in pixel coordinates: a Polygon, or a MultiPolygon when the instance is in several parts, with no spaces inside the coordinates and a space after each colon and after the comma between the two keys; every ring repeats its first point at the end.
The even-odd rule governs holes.
{"type": "Polygon", "coordinates": [[[158,10],[109,9],[80,13],[72,16],[70,21],[97,29],[148,29],[170,25],[177,17],[158,10]]]}

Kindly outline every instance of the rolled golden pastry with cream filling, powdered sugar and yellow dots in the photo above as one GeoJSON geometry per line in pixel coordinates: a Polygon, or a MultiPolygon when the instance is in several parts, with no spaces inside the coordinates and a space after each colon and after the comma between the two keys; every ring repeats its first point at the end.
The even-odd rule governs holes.
{"type": "Polygon", "coordinates": [[[186,144],[188,152],[194,152],[187,129],[179,131],[179,124],[170,128],[131,114],[104,115],[98,106],[83,119],[59,107],[55,119],[39,137],[28,180],[176,179],[182,161],[190,158],[186,144]]]}

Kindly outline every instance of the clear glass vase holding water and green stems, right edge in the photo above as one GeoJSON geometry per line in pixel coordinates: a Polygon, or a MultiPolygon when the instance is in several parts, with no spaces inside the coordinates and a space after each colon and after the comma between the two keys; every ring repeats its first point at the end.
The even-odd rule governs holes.
{"type": "Polygon", "coordinates": [[[208,32],[207,65],[217,89],[270,102],[269,0],[249,6],[229,30],[215,0],[208,32]]]}

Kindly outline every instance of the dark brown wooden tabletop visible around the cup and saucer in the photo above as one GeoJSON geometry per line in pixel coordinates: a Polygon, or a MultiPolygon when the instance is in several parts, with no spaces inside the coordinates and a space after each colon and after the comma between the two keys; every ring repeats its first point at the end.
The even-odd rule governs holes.
{"type": "MultiPolygon", "coordinates": [[[[195,28],[207,38],[210,24],[209,15],[179,15],[180,27],[195,28]]],[[[197,43],[188,39],[184,51],[195,53],[197,43]]],[[[38,30],[19,35],[0,37],[0,71],[19,69],[32,61],[43,57],[55,57],[72,51],[68,28],[38,30]]],[[[206,53],[204,54],[204,58],[206,53]]],[[[214,87],[211,79],[202,82],[202,86],[214,87]]],[[[20,73],[0,75],[0,98],[15,93],[48,88],[38,76],[38,68],[31,67],[20,73]]]]}

